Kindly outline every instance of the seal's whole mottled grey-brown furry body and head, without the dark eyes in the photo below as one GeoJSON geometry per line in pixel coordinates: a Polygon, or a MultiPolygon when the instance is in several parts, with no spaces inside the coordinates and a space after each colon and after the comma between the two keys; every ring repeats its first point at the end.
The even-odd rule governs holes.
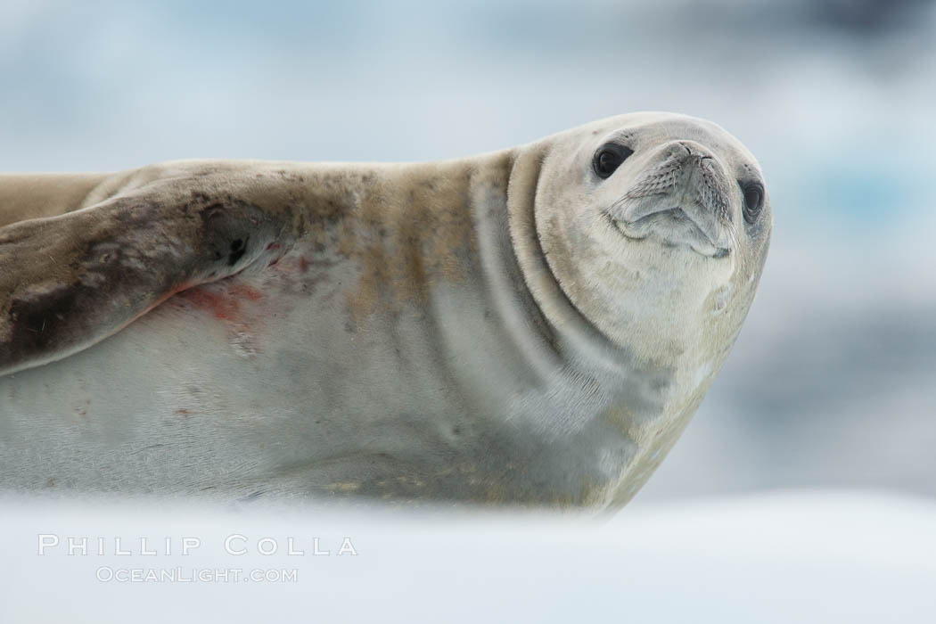
{"type": "Polygon", "coordinates": [[[619,506],[753,299],[742,176],[718,126],[638,113],[444,163],[0,177],[0,486],[619,506]]]}

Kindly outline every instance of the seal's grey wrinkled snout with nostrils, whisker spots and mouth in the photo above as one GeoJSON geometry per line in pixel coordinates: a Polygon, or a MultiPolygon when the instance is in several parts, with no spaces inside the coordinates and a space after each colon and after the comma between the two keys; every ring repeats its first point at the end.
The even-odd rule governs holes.
{"type": "Polygon", "coordinates": [[[729,192],[724,167],[706,146],[673,140],[651,153],[610,216],[628,238],[656,234],[722,257],[732,249],[729,192]]]}

